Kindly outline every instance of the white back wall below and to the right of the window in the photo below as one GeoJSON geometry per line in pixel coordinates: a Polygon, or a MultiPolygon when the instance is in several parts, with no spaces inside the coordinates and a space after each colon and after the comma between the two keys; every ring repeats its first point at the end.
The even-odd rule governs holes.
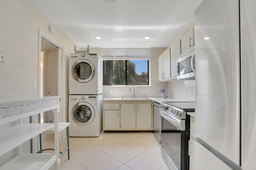
{"type": "MultiPolygon", "coordinates": [[[[168,88],[167,82],[158,82],[158,56],[166,48],[150,48],[150,78],[151,86],[135,86],[135,93],[137,97],[158,97],[159,88],[168,88]]],[[[132,97],[133,88],[129,91],[130,86],[103,86],[103,97],[106,98],[120,98],[132,97]],[[108,94],[108,90],[112,90],[113,94],[108,94]]]]}

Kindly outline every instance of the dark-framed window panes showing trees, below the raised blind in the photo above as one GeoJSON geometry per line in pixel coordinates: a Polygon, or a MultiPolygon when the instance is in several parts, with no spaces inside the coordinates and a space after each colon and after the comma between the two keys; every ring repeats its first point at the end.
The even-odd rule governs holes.
{"type": "Polygon", "coordinates": [[[148,85],[148,60],[103,61],[103,85],[148,85]]]}

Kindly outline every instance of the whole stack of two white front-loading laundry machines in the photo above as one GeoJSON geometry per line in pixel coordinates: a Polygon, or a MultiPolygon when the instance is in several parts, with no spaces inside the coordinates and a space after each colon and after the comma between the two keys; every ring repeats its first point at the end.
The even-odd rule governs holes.
{"type": "Polygon", "coordinates": [[[98,137],[102,130],[102,59],[76,51],[69,61],[70,137],[98,137]]]}

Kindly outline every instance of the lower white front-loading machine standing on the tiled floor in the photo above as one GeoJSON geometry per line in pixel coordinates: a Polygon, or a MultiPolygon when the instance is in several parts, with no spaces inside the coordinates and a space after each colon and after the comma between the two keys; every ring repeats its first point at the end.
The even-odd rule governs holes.
{"type": "Polygon", "coordinates": [[[98,137],[102,130],[102,94],[70,95],[68,121],[70,137],[98,137]]]}

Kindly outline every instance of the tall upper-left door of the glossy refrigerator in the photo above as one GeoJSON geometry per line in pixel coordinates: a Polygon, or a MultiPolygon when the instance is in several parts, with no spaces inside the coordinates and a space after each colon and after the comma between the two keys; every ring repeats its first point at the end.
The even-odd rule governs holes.
{"type": "MultiPolygon", "coordinates": [[[[239,1],[204,0],[195,11],[195,28],[196,139],[239,166],[239,1]]],[[[195,157],[195,163],[202,164],[203,157],[195,157]]]]}

